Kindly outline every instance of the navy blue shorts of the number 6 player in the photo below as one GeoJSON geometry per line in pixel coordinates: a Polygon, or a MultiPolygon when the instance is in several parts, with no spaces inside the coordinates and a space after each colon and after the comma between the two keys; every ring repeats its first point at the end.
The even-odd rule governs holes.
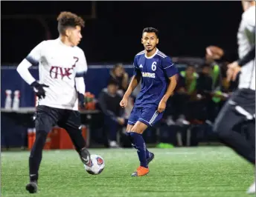
{"type": "Polygon", "coordinates": [[[136,121],[141,121],[144,124],[147,124],[147,126],[153,127],[164,114],[164,112],[158,113],[157,109],[158,107],[156,106],[133,107],[128,124],[134,125],[136,121]]]}

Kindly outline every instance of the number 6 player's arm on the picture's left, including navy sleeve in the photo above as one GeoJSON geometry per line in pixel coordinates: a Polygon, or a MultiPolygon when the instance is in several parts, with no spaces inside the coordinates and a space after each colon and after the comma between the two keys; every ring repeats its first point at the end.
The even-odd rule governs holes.
{"type": "Polygon", "coordinates": [[[132,94],[132,91],[135,89],[135,87],[138,86],[139,81],[141,81],[141,70],[138,69],[136,59],[134,60],[133,66],[134,76],[132,76],[132,80],[129,82],[129,87],[127,88],[127,91],[124,93],[124,97],[120,102],[121,107],[127,107],[129,96],[132,94]]]}

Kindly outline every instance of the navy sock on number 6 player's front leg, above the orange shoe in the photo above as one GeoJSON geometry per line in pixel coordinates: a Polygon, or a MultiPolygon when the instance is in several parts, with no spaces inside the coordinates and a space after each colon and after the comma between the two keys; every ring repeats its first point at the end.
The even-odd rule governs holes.
{"type": "Polygon", "coordinates": [[[144,138],[141,134],[135,132],[131,132],[129,135],[131,136],[132,141],[134,142],[133,144],[135,144],[137,149],[138,159],[141,162],[141,166],[147,167],[146,144],[144,138]]]}

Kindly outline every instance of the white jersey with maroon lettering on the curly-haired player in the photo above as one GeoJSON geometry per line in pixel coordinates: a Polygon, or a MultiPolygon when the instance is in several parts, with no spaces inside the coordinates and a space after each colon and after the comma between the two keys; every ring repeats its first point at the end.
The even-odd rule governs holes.
{"type": "Polygon", "coordinates": [[[39,63],[39,83],[45,89],[45,99],[39,105],[78,110],[75,76],[87,71],[86,57],[80,47],[68,47],[60,39],[42,41],[27,59],[39,63]]]}

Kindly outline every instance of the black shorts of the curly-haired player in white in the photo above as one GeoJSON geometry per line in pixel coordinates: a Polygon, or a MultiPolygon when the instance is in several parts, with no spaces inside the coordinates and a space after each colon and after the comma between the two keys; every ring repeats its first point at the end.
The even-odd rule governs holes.
{"type": "Polygon", "coordinates": [[[36,130],[49,133],[54,126],[62,127],[65,130],[80,130],[80,113],[74,110],[58,109],[39,105],[35,114],[36,130]]]}

